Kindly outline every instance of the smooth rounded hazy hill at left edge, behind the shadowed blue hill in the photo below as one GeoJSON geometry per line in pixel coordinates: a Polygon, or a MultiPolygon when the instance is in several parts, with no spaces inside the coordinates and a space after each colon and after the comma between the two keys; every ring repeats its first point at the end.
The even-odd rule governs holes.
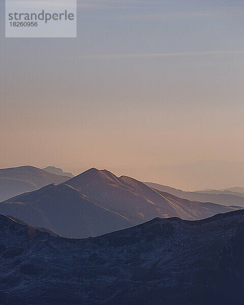
{"type": "Polygon", "coordinates": [[[33,166],[3,168],[0,169],[0,201],[68,179],[70,177],[48,173],[33,166]]]}

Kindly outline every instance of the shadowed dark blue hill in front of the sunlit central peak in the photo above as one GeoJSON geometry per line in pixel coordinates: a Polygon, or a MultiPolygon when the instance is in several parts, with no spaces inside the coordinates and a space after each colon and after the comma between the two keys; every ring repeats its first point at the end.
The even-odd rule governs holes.
{"type": "Polygon", "coordinates": [[[52,184],[13,197],[2,202],[0,210],[2,214],[67,237],[97,236],[133,225],[65,184],[52,184]]]}

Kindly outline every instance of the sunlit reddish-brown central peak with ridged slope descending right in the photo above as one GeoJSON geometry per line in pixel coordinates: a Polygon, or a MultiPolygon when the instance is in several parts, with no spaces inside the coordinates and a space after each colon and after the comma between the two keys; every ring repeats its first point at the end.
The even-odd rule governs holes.
{"type": "Polygon", "coordinates": [[[196,220],[230,211],[230,207],[192,202],[168,193],[162,194],[136,179],[116,177],[107,170],[92,168],[66,183],[99,201],[104,207],[116,210],[137,223],[155,217],[196,220]]]}

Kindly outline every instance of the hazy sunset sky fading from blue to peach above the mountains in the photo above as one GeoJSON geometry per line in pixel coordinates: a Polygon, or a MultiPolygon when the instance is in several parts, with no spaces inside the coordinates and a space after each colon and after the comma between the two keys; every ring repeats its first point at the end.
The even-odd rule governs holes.
{"type": "Polygon", "coordinates": [[[0,167],[244,161],[243,0],[78,0],[76,39],[5,38],[4,11],[0,167]]]}

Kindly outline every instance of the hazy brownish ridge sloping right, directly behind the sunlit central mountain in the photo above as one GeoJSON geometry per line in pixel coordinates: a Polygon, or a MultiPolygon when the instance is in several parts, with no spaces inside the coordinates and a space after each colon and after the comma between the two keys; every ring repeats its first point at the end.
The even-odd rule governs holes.
{"type": "Polygon", "coordinates": [[[182,190],[174,189],[168,186],[160,185],[153,182],[143,182],[145,185],[155,188],[157,190],[168,192],[172,195],[178,196],[180,198],[185,198],[188,200],[197,200],[201,202],[213,202],[223,205],[237,205],[244,207],[244,194],[234,193],[232,191],[214,191],[205,190],[202,193],[199,192],[185,192],[182,190]]]}

